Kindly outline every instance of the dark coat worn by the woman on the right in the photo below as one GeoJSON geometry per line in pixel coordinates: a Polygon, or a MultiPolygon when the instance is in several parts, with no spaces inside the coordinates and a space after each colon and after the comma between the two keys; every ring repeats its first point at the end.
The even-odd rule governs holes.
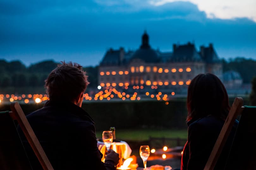
{"type": "MultiPolygon", "coordinates": [[[[183,149],[181,170],[203,170],[216,143],[224,121],[215,116],[206,116],[188,123],[188,141],[183,149]]],[[[225,167],[235,136],[238,121],[235,122],[214,169],[225,167]]]]}

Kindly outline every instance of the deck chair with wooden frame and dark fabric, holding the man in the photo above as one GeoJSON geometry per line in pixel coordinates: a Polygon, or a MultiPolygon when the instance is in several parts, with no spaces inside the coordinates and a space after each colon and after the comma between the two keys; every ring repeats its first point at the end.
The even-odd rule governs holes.
{"type": "Polygon", "coordinates": [[[12,111],[0,112],[0,169],[32,169],[16,130],[14,120],[20,125],[44,170],[53,170],[43,148],[18,102],[11,103],[12,111]]]}

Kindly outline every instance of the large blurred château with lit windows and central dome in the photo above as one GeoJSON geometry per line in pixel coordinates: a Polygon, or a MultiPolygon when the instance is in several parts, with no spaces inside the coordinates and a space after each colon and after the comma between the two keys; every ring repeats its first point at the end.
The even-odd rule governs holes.
{"type": "Polygon", "coordinates": [[[98,82],[101,87],[128,89],[187,88],[199,73],[213,73],[222,79],[222,62],[213,45],[200,47],[193,43],[173,45],[172,52],[161,52],[149,45],[144,32],[142,44],[136,51],[110,48],[99,65],[98,82]]]}

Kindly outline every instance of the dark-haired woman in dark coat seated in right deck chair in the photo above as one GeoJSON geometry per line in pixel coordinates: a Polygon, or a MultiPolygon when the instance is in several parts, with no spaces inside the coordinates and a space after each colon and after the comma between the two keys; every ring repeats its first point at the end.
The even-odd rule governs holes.
{"type": "MultiPolygon", "coordinates": [[[[188,87],[187,110],[188,139],[181,170],[203,170],[230,110],[227,91],[217,76],[206,73],[193,78],[188,87]]],[[[215,169],[224,169],[234,135],[235,128],[215,169]]]]}

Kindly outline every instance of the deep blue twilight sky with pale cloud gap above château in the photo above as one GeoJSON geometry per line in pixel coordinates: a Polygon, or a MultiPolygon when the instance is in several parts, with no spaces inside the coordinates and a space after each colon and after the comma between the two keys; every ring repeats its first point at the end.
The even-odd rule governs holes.
{"type": "Polygon", "coordinates": [[[255,0],[0,0],[0,59],[97,65],[110,47],[214,44],[220,58],[256,59],[255,0]]]}

